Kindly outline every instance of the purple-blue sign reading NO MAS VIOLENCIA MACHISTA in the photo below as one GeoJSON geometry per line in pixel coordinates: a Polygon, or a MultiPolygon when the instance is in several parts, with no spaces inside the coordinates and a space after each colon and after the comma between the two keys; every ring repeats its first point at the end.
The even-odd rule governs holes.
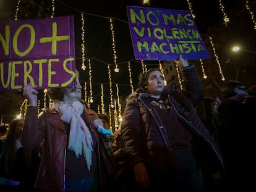
{"type": "Polygon", "coordinates": [[[135,59],[207,59],[210,54],[188,10],[127,6],[135,59]]]}

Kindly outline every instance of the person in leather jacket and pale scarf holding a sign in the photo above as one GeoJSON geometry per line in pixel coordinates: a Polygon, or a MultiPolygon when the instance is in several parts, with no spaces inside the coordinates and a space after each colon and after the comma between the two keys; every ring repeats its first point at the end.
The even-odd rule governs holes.
{"type": "Polygon", "coordinates": [[[34,149],[45,140],[35,182],[40,191],[99,191],[108,182],[108,176],[114,174],[114,170],[105,167],[105,158],[111,154],[106,154],[101,144],[102,120],[80,102],[81,90],[77,72],[73,87],[47,90],[53,106],[38,115],[36,85],[23,88],[29,103],[22,131],[23,146],[34,149]]]}

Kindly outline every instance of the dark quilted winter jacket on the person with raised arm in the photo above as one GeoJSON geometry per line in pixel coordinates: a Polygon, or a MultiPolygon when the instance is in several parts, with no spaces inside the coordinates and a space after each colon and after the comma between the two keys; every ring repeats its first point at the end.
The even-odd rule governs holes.
{"type": "MultiPolygon", "coordinates": [[[[164,88],[163,98],[173,107],[179,119],[190,128],[197,146],[193,146],[194,154],[197,157],[205,158],[211,152],[213,165],[217,164],[218,170],[224,170],[223,157],[220,154],[215,142],[198,118],[194,107],[203,97],[203,89],[194,65],[181,69],[184,78],[184,89],[169,90],[164,88]],[[205,148],[202,151],[201,148],[205,148]],[[199,156],[198,156],[199,155],[199,156]]],[[[148,93],[140,93],[138,88],[134,94],[127,99],[126,109],[122,115],[121,135],[124,141],[124,152],[133,167],[137,162],[145,162],[148,171],[152,174],[171,175],[178,174],[176,162],[173,158],[171,145],[168,136],[157,112],[147,104],[145,100],[150,96],[148,93]]],[[[194,140],[194,139],[193,139],[194,140]]],[[[198,159],[199,162],[200,158],[198,159]]]]}

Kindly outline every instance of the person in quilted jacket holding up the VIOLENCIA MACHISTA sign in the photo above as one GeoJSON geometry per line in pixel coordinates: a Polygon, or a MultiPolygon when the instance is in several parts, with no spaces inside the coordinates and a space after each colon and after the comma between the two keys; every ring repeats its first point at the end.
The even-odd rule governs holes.
{"type": "Polygon", "coordinates": [[[194,65],[179,56],[182,91],[164,86],[160,69],[149,69],[127,98],[122,115],[124,153],[140,190],[204,191],[201,162],[222,171],[223,158],[194,107],[203,88],[194,65]]]}

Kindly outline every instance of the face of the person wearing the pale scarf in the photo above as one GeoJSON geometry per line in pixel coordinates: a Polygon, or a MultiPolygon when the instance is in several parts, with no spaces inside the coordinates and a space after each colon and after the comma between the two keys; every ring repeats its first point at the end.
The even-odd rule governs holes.
{"type": "Polygon", "coordinates": [[[80,85],[79,79],[76,78],[75,86],[73,88],[66,88],[63,101],[67,104],[71,104],[75,101],[79,101],[82,97],[82,86],[80,85]]]}

